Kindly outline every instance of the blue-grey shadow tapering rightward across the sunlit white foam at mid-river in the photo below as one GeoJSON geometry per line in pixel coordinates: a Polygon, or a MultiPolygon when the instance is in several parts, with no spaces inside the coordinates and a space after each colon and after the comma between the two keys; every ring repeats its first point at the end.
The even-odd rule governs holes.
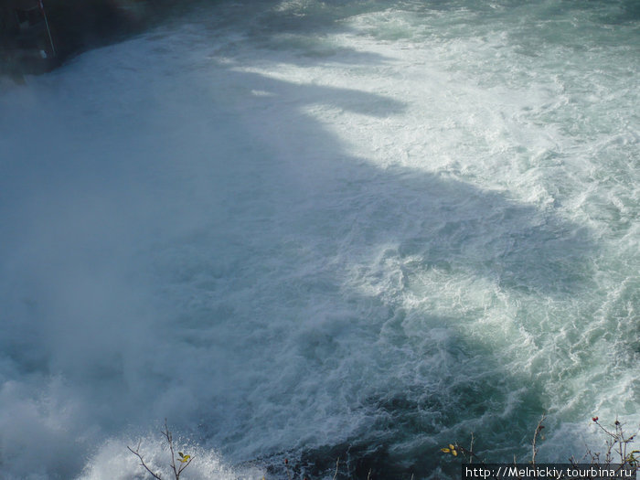
{"type": "MultiPolygon", "coordinates": [[[[367,159],[350,157],[322,124],[301,113],[301,106],[322,104],[384,119],[403,111],[399,101],[251,72],[231,70],[225,77],[277,102],[278,124],[289,125],[285,132],[282,127],[253,125],[261,131],[246,133],[262,141],[282,141],[290,149],[284,155],[293,159],[283,173],[290,183],[272,187],[284,189],[280,198],[300,195],[297,201],[309,204],[314,221],[299,227],[315,239],[310,244],[333,246],[336,255],[336,237],[348,239],[360,252],[391,245],[400,259],[419,258],[420,268],[472,272],[500,288],[547,296],[579,293],[589,278],[584,263],[593,248],[588,230],[554,210],[483,190],[446,172],[432,174],[400,165],[379,168],[367,159]],[[336,222],[346,204],[347,211],[340,212],[343,217],[336,222]],[[327,241],[319,241],[325,235],[327,241]]],[[[244,123],[240,128],[251,126],[244,123]]]]}

